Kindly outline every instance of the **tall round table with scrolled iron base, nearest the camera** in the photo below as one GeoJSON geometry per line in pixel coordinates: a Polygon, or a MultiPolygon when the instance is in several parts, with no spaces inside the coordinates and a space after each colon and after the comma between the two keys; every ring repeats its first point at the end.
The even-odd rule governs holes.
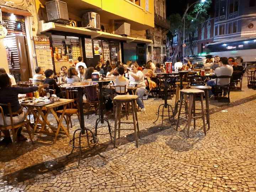
{"type": "MultiPolygon", "coordinates": [[[[82,148],[90,148],[91,149],[91,147],[95,146],[96,143],[98,142],[98,139],[97,139],[97,137],[95,137],[94,133],[90,129],[85,128],[85,125],[84,125],[84,110],[82,108],[82,105],[83,105],[82,97],[84,95],[83,88],[87,87],[87,86],[94,86],[94,85],[97,85],[97,84],[98,84],[97,82],[74,82],[74,83],[71,83],[71,84],[62,84],[62,85],[60,85],[61,87],[65,87],[65,88],[77,88],[78,89],[80,129],[75,130],[74,135],[73,135],[73,139],[71,139],[70,142],[69,142],[69,145],[72,147],[72,150],[71,150],[70,154],[67,155],[67,157],[68,157],[69,155],[71,155],[73,153],[75,148],[78,148],[79,149],[78,166],[79,166],[80,159],[81,159],[81,152],[82,152],[81,150],[82,150],[82,148]],[[84,135],[85,131],[86,131],[86,135],[84,135]],[[75,136],[75,134],[77,132],[79,132],[78,137],[75,136]],[[88,144],[87,146],[85,146],[85,147],[81,146],[81,137],[87,137],[87,144],[88,144]],[[89,137],[92,137],[93,143],[90,143],[91,139],[89,139],[89,137]],[[75,145],[76,139],[79,139],[79,145],[78,146],[75,145]],[[71,144],[71,142],[72,142],[72,144],[71,144]]],[[[97,153],[98,153],[98,151],[97,151],[97,153]]],[[[100,155],[100,154],[98,153],[98,155],[100,155]]],[[[100,156],[103,157],[102,155],[100,155],[100,156]]]]}

